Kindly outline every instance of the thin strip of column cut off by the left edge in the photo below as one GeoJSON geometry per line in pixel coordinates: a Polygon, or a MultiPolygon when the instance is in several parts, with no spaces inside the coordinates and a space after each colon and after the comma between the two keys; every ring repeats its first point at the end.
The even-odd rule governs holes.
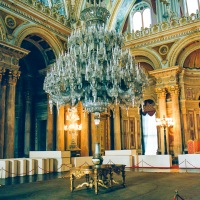
{"type": "Polygon", "coordinates": [[[6,79],[0,71],[0,159],[3,158],[5,123],[6,79]]]}

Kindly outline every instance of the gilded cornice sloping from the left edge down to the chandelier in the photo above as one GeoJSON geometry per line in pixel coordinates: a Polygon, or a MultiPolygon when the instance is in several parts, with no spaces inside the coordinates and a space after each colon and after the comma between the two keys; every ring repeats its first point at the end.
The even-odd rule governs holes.
{"type": "Polygon", "coordinates": [[[30,5],[27,2],[29,1],[0,0],[0,7],[4,9],[4,11],[11,11],[13,15],[15,14],[28,21],[44,26],[62,38],[66,38],[66,36],[71,33],[71,29],[67,28],[68,21],[64,19],[63,16],[59,18],[57,15],[53,15],[53,13],[45,14],[44,10],[37,10],[34,4],[30,5]]]}

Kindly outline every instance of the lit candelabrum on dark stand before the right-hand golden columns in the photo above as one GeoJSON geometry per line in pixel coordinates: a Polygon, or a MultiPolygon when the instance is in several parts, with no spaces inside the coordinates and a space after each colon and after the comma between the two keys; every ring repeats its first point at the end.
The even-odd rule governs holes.
{"type": "Polygon", "coordinates": [[[172,118],[166,118],[165,115],[163,118],[156,118],[156,126],[163,127],[164,129],[164,154],[167,155],[167,138],[166,138],[166,128],[172,127],[174,125],[172,118]]]}

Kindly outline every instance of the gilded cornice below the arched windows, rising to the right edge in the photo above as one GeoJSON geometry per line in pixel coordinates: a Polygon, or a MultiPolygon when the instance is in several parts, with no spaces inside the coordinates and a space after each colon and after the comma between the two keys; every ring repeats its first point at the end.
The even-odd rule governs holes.
{"type": "Polygon", "coordinates": [[[176,20],[175,24],[173,24],[173,22],[163,22],[155,24],[150,28],[142,29],[141,31],[127,33],[125,35],[125,46],[132,48],[154,46],[156,44],[164,44],[166,41],[174,41],[181,37],[200,32],[200,14],[197,14],[194,17],[194,19],[182,17],[176,20]]]}

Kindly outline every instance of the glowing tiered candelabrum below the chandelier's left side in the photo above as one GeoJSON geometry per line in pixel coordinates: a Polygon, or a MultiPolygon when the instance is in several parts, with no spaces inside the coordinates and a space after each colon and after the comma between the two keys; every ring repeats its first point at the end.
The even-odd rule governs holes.
{"type": "Polygon", "coordinates": [[[68,112],[69,115],[66,116],[66,120],[69,121],[69,125],[65,125],[64,130],[69,131],[69,133],[71,133],[72,136],[69,149],[78,149],[76,143],[76,136],[77,136],[77,131],[80,131],[82,129],[82,125],[77,124],[77,121],[80,120],[77,114],[77,108],[73,107],[71,109],[68,109],[68,112]]]}

